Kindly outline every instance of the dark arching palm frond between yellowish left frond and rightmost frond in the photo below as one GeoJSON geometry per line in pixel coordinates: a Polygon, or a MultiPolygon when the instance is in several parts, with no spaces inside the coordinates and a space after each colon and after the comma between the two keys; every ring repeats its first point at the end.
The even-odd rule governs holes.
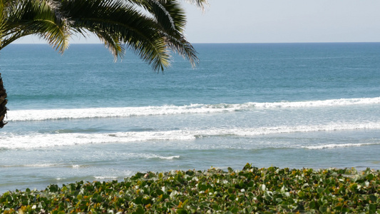
{"type": "Polygon", "coordinates": [[[63,1],[63,11],[71,17],[71,27],[79,31],[86,29],[98,35],[114,56],[122,57],[116,49],[125,43],[155,71],[170,65],[170,52],[162,29],[155,19],[146,16],[130,4],[121,1],[73,0],[63,1]]]}

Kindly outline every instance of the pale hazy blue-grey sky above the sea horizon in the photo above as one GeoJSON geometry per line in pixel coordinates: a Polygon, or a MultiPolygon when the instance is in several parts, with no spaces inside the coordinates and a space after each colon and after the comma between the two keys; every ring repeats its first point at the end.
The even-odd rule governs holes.
{"type": "MultiPolygon", "coordinates": [[[[379,42],[379,0],[209,0],[183,4],[191,43],[379,42]]],[[[27,37],[16,43],[43,43],[27,37]]],[[[73,36],[74,43],[99,43],[73,36]]]]}

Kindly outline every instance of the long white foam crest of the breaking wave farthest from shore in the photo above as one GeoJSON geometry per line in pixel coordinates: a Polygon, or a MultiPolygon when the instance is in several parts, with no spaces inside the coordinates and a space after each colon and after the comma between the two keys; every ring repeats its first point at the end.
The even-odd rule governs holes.
{"type": "Polygon", "coordinates": [[[275,103],[192,104],[189,106],[145,106],[124,108],[75,108],[8,111],[8,121],[45,121],[81,118],[113,118],[130,116],[156,116],[182,113],[222,113],[250,111],[258,108],[307,108],[321,106],[349,106],[379,104],[377,98],[348,98],[326,101],[299,101],[275,103]]]}

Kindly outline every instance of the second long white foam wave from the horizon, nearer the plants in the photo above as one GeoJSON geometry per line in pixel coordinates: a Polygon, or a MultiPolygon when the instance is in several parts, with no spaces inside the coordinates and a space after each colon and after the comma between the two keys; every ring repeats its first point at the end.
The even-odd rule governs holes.
{"type": "MultiPolygon", "coordinates": [[[[192,141],[196,138],[212,136],[259,136],[280,133],[312,132],[312,131],[344,131],[380,129],[380,122],[371,123],[331,123],[314,126],[273,126],[258,128],[208,128],[174,131],[138,131],[118,133],[54,133],[17,136],[4,134],[1,136],[0,148],[44,148],[55,146],[72,146],[89,143],[129,143],[143,141],[192,141]]],[[[152,156],[153,158],[167,158],[152,156]]],[[[177,158],[171,156],[169,158],[177,158]]]]}

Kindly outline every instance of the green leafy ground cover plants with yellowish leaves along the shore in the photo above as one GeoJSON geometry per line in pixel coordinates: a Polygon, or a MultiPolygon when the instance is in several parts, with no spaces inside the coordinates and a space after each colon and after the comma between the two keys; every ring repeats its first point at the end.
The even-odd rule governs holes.
{"type": "Polygon", "coordinates": [[[380,213],[380,170],[210,168],[0,195],[1,213],[380,213]]]}

